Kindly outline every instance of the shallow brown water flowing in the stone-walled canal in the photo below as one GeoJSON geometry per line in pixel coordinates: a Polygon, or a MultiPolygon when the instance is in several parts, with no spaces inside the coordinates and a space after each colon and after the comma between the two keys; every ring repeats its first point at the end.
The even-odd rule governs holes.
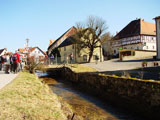
{"type": "Polygon", "coordinates": [[[135,114],[125,110],[115,108],[110,104],[104,103],[95,97],[75,90],[69,83],[61,82],[53,78],[43,76],[53,93],[62,97],[72,106],[75,113],[82,116],[85,120],[143,120],[135,114]]]}

